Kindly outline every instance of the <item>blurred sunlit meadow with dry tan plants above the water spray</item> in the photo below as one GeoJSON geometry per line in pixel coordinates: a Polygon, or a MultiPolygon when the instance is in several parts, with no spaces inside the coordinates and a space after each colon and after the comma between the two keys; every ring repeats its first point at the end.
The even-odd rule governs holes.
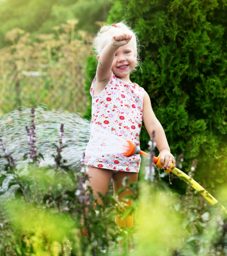
{"type": "Polygon", "coordinates": [[[84,113],[85,58],[107,0],[0,2],[0,112],[44,103],[84,113]]]}

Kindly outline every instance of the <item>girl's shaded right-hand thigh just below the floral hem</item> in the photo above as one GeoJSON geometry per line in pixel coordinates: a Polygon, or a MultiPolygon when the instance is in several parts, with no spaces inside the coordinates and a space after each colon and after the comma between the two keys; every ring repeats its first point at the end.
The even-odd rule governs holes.
{"type": "MultiPolygon", "coordinates": [[[[122,180],[124,177],[128,177],[129,180],[127,181],[127,184],[130,184],[131,182],[137,182],[138,180],[138,172],[116,172],[113,174],[113,187],[114,187],[114,196],[116,196],[117,191],[119,188],[122,188],[122,180]]],[[[119,199],[121,200],[122,197],[127,196],[128,194],[132,194],[133,192],[131,190],[123,191],[119,195],[119,199]]],[[[130,200],[131,203],[131,200],[130,200]]]]}

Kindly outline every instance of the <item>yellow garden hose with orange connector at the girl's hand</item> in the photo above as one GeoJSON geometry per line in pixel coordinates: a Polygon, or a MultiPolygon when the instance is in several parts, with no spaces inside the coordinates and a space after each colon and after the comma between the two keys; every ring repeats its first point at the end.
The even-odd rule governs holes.
{"type": "MultiPolygon", "coordinates": [[[[153,162],[154,165],[163,169],[163,165],[161,165],[160,163],[160,157],[153,157],[153,162]]],[[[187,174],[185,174],[184,172],[182,172],[181,170],[177,169],[176,167],[173,168],[173,163],[170,167],[170,169],[166,169],[164,170],[167,173],[172,172],[173,174],[175,174],[176,176],[178,176],[179,178],[181,178],[183,181],[185,181],[186,183],[188,183],[191,187],[194,188],[194,190],[198,191],[201,196],[203,196],[209,203],[211,204],[216,204],[218,203],[218,201],[211,196],[210,193],[208,193],[202,186],[199,185],[199,183],[197,183],[196,181],[194,181],[191,177],[189,177],[187,174]]],[[[221,204],[220,204],[221,205],[221,204]]],[[[221,205],[221,208],[224,210],[224,212],[227,214],[227,209],[221,205]]]]}

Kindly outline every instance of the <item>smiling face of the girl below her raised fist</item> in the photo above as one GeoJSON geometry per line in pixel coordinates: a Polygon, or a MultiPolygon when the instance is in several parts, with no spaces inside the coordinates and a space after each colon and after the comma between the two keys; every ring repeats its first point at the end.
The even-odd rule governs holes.
{"type": "Polygon", "coordinates": [[[129,80],[129,74],[136,64],[137,53],[133,48],[132,40],[117,49],[112,64],[113,73],[122,80],[129,80]]]}

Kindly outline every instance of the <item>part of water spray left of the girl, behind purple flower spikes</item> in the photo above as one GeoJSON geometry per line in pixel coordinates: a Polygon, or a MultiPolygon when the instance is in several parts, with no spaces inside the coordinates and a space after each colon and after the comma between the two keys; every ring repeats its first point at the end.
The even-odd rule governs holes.
{"type": "MultiPolygon", "coordinates": [[[[62,150],[62,158],[72,169],[78,167],[80,159],[90,139],[90,121],[79,114],[64,110],[46,110],[45,107],[35,109],[35,133],[37,152],[43,154],[41,166],[55,166],[53,155],[56,154],[59,130],[64,124],[63,143],[67,147],[62,150]]],[[[31,125],[31,109],[23,107],[22,111],[13,111],[0,117],[0,134],[5,148],[12,154],[17,169],[27,169],[31,159],[23,161],[29,153],[29,144],[25,126],[31,125]]],[[[0,153],[1,154],[1,153],[0,153]]],[[[0,170],[4,169],[5,160],[0,159],[0,170]]]]}

